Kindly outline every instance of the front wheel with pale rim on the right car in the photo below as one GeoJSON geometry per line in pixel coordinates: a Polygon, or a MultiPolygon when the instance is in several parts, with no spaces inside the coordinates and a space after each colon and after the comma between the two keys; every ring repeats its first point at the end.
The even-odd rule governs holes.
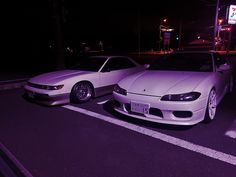
{"type": "Polygon", "coordinates": [[[211,122],[216,114],[216,91],[212,89],[208,96],[204,122],[211,122]]]}

